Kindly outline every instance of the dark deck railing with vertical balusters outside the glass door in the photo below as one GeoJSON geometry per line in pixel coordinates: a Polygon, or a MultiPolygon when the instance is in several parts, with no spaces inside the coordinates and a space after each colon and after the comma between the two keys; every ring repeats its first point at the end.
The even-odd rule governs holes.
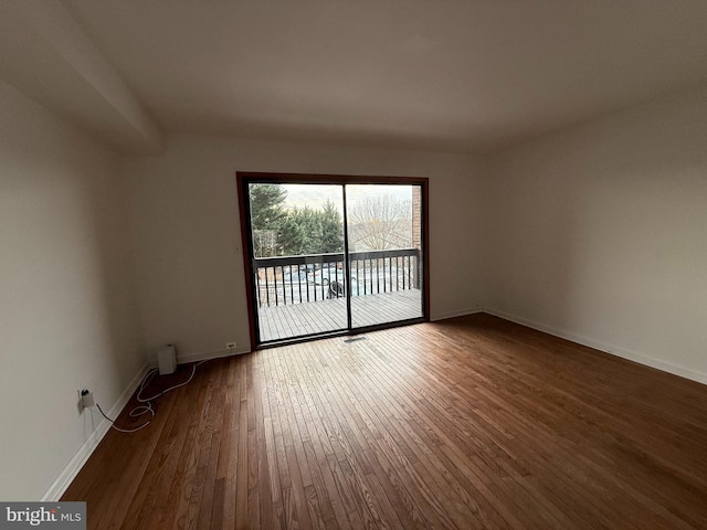
{"type": "Polygon", "coordinates": [[[366,296],[420,288],[420,250],[349,253],[350,289],[344,253],[258,257],[253,261],[258,307],[366,296]]]}

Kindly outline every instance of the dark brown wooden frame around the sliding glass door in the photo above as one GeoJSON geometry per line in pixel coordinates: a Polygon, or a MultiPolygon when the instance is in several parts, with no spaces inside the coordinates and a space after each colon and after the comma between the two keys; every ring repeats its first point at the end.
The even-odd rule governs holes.
{"type": "MultiPolygon", "coordinates": [[[[354,174],[312,174],[312,173],[273,173],[256,171],[236,171],[236,190],[239,195],[239,214],[241,221],[241,244],[243,250],[243,271],[245,273],[245,294],[247,297],[247,320],[251,333],[251,351],[256,349],[256,300],[253,296],[253,262],[251,259],[251,233],[249,226],[250,204],[247,201],[247,184],[272,183],[272,184],[408,184],[420,186],[422,189],[422,319],[430,321],[430,208],[429,208],[429,181],[426,177],[370,177],[354,174]]],[[[399,326],[399,322],[383,324],[351,331],[350,329],[337,335],[360,333],[371,329],[383,329],[399,326]]],[[[310,338],[309,338],[310,339],[310,338]]],[[[297,341],[294,339],[293,342],[297,341]]]]}

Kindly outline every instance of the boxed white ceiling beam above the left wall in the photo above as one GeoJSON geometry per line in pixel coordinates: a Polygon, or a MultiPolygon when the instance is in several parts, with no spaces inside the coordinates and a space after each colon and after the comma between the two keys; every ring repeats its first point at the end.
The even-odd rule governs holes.
{"type": "Polygon", "coordinates": [[[155,153],[162,132],[55,0],[0,0],[0,77],[122,152],[155,153]]]}

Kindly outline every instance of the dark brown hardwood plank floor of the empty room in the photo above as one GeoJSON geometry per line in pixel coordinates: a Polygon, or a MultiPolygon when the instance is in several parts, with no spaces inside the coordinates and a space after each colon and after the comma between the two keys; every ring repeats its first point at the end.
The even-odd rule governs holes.
{"type": "Polygon", "coordinates": [[[65,492],[88,528],[707,528],[707,386],[486,315],[209,361],[156,409],[65,492]]]}

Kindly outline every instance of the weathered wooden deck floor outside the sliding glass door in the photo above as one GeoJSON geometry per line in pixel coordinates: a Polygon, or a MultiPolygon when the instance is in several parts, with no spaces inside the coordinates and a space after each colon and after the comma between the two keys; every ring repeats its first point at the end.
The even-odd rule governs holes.
{"type": "MultiPolygon", "coordinates": [[[[351,298],[351,320],[355,328],[421,316],[420,289],[351,298]]],[[[258,321],[262,342],[346,329],[346,298],[261,307],[258,321]]]]}

